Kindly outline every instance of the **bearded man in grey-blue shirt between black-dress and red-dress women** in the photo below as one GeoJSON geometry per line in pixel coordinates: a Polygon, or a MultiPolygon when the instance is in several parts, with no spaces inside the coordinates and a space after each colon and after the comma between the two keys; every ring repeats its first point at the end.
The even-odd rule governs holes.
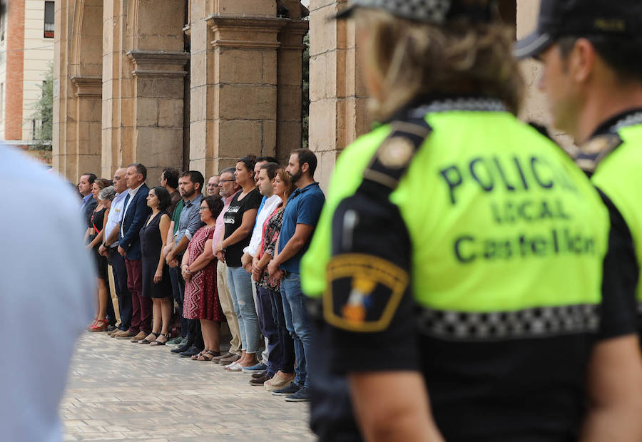
{"type": "MultiPolygon", "coordinates": [[[[165,260],[170,267],[176,268],[183,260],[183,254],[188,244],[203,222],[200,220],[200,202],[203,201],[203,183],[205,178],[198,170],[183,172],[178,178],[178,191],[183,197],[183,210],[178,220],[178,230],[174,235],[172,250],[167,254],[165,260]]],[[[181,304],[185,296],[185,281],[178,272],[178,287],[181,304]]],[[[203,350],[203,335],[200,333],[200,321],[198,319],[185,319],[188,324],[187,340],[181,346],[172,350],[182,357],[193,356],[203,350]]]]}

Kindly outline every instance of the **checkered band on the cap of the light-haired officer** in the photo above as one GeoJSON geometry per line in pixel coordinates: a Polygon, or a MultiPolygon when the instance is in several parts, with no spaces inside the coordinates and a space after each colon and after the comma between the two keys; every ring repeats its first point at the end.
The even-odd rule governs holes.
{"type": "Polygon", "coordinates": [[[443,24],[451,0],[353,0],[353,6],[385,9],[397,16],[443,24]]]}

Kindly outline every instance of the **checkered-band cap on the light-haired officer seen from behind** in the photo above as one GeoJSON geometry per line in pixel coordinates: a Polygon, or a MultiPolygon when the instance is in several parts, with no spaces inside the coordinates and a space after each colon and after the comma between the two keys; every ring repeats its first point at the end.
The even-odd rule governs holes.
{"type": "Polygon", "coordinates": [[[402,19],[437,25],[461,17],[491,21],[497,16],[496,0],[352,0],[336,18],[347,19],[360,8],[383,9],[402,19]]]}

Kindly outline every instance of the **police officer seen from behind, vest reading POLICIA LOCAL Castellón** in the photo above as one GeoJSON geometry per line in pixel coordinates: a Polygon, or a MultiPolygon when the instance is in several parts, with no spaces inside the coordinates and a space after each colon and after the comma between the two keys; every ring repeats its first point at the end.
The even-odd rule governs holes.
{"type": "Polygon", "coordinates": [[[524,84],[493,11],[355,0],[341,16],[384,124],[337,160],[302,262],[330,370],[369,440],[641,440],[608,211],[516,119],[524,84]]]}

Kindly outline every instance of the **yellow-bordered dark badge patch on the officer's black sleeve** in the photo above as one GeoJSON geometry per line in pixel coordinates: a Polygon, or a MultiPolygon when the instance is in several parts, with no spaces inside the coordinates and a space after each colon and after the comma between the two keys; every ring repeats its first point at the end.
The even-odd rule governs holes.
{"type": "Polygon", "coordinates": [[[387,329],[409,284],[406,270],[361,253],[334,257],[327,279],[323,316],[328,324],[350,332],[387,329]]]}

